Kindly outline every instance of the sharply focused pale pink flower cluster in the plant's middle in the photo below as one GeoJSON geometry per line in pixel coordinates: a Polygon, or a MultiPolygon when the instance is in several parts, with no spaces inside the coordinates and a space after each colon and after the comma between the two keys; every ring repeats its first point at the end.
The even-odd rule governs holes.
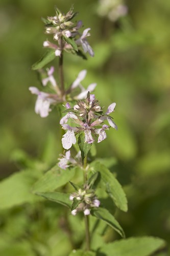
{"type": "Polygon", "coordinates": [[[94,94],[90,95],[90,93],[85,100],[78,101],[72,109],[67,103],[66,115],[60,120],[63,129],[67,130],[62,138],[63,147],[68,150],[72,144],[76,144],[75,134],[82,132],[84,132],[86,143],[93,143],[96,136],[98,136],[98,143],[106,139],[105,130],[109,130],[110,126],[117,130],[116,124],[109,116],[114,111],[115,105],[116,103],[110,104],[104,113],[99,101],[95,100],[94,94]],[[69,120],[74,126],[68,124],[69,120]],[[108,121],[109,126],[103,124],[105,120],[108,121]]]}

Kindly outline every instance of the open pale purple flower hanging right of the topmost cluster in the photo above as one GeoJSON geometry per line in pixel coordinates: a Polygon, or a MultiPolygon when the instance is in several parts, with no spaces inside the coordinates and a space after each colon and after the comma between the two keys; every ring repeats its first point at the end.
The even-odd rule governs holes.
{"type": "Polygon", "coordinates": [[[90,54],[90,56],[94,56],[94,52],[93,49],[91,48],[91,46],[89,45],[86,37],[90,35],[90,33],[88,33],[88,31],[90,30],[90,28],[87,28],[83,31],[83,34],[80,36],[79,39],[76,40],[77,45],[82,45],[83,47],[83,51],[86,53],[88,52],[90,54]]]}

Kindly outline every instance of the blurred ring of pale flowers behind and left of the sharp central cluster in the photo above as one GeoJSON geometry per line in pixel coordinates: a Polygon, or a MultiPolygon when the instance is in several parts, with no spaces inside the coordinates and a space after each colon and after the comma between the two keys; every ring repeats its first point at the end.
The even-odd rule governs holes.
{"type": "Polygon", "coordinates": [[[87,89],[85,89],[81,81],[85,78],[87,71],[82,70],[76,80],[71,83],[70,87],[61,93],[60,88],[53,76],[54,67],[47,69],[47,76],[41,80],[42,86],[46,87],[50,93],[39,91],[36,87],[30,87],[29,90],[32,94],[37,95],[37,101],[35,104],[35,112],[41,117],[47,117],[49,112],[52,110],[51,105],[56,105],[57,103],[65,102],[66,100],[83,99],[87,96],[88,91],[92,92],[96,83],[91,83],[87,89]]]}

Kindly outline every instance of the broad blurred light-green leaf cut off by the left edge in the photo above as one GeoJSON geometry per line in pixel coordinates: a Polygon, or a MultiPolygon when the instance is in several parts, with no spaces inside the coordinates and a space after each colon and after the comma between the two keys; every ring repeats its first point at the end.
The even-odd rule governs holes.
{"type": "Polygon", "coordinates": [[[38,201],[31,193],[31,187],[40,175],[39,172],[29,169],[4,179],[0,183],[0,209],[38,201]]]}

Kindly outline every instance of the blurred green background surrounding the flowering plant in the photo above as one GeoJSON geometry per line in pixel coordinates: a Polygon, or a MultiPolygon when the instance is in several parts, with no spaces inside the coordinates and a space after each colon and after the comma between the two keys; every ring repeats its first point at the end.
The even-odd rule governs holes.
{"type": "MultiPolygon", "coordinates": [[[[69,85],[82,69],[87,69],[83,86],[97,82],[95,95],[101,105],[107,107],[116,102],[114,121],[118,131],[108,132],[108,139],[97,145],[97,150],[100,157],[117,158],[112,171],[124,186],[129,201],[128,213],[117,212],[118,221],[127,237],[152,235],[169,243],[170,2],[167,0],[126,1],[128,14],[115,22],[99,15],[97,0],[1,0],[0,178],[18,172],[28,165],[29,159],[38,158],[39,164],[45,166],[57,161],[61,148],[56,111],[44,119],[36,115],[36,97],[28,88],[38,86],[37,74],[31,66],[45,51],[42,44],[47,35],[43,33],[41,17],[55,15],[55,5],[67,12],[72,4],[79,12],[76,19],[83,20],[84,28],[91,28],[88,40],[95,56],[88,56],[87,61],[65,56],[65,81],[69,85]]],[[[54,65],[57,69],[57,62],[54,65]]],[[[51,239],[48,246],[55,240],[56,227],[48,220],[54,220],[55,214],[50,211],[54,205],[47,207],[43,215],[46,224],[35,217],[36,207],[26,204],[3,209],[1,234],[8,243],[22,241],[23,251],[15,248],[16,255],[64,255],[65,252],[45,254],[43,246],[39,254],[29,252],[30,244],[35,245],[35,241],[35,247],[40,248],[46,237],[51,239]],[[32,214],[36,223],[32,223],[32,214]]],[[[4,243],[0,241],[0,247],[5,248],[4,243]]]]}

